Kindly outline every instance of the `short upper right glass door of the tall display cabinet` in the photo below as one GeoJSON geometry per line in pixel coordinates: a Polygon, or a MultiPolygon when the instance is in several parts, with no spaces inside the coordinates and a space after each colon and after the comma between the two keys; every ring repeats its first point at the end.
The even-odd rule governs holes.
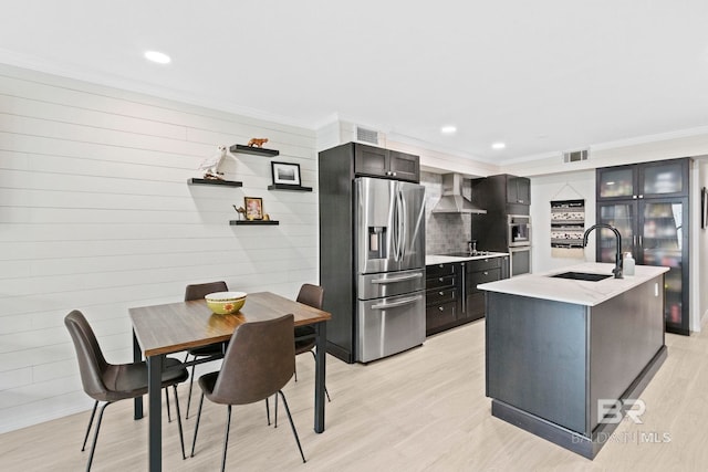
{"type": "Polygon", "coordinates": [[[639,198],[688,196],[688,159],[643,164],[639,198]]]}

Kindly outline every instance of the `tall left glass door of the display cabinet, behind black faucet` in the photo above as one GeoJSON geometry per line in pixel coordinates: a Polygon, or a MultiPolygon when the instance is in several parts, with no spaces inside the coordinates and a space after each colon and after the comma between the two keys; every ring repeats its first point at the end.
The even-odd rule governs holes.
{"type": "MultiPolygon", "coordinates": [[[[597,222],[611,224],[620,231],[622,235],[622,252],[632,252],[634,259],[639,262],[639,254],[636,250],[637,238],[637,202],[634,200],[597,203],[597,222]]],[[[615,262],[617,253],[615,234],[608,229],[597,228],[595,231],[595,248],[597,262],[615,262]]]]}

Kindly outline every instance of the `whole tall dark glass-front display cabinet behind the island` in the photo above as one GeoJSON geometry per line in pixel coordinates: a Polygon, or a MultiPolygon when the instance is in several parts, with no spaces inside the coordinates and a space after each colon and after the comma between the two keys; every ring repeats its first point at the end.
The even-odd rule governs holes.
{"type": "MultiPolygon", "coordinates": [[[[597,169],[597,222],[622,234],[622,252],[637,264],[669,268],[665,274],[666,331],[688,328],[689,159],[597,169]]],[[[614,262],[615,237],[597,232],[598,262],[614,262]]]]}

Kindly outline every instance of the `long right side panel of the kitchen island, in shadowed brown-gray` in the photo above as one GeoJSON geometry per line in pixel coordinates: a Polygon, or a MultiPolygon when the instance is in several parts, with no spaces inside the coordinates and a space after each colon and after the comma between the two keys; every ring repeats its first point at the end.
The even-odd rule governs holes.
{"type": "Polygon", "coordinates": [[[664,346],[664,275],[591,308],[590,420],[598,399],[625,391],[664,346]]]}

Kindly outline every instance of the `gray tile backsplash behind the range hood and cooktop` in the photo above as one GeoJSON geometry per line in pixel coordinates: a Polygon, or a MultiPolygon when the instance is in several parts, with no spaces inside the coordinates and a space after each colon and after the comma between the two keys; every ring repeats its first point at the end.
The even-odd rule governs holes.
{"type": "MultiPolygon", "coordinates": [[[[471,239],[471,216],[462,213],[433,213],[433,208],[442,195],[442,176],[420,172],[420,185],[425,186],[425,250],[427,254],[447,254],[467,250],[471,239]]],[[[465,180],[462,195],[471,195],[471,185],[465,180]]]]}

